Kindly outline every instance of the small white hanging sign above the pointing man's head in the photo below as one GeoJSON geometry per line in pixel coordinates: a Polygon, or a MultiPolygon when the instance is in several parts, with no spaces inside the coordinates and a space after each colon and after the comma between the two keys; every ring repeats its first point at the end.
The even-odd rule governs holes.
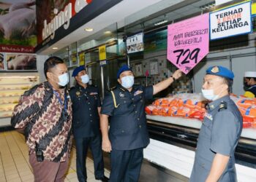
{"type": "Polygon", "coordinates": [[[143,51],[143,33],[127,37],[127,53],[143,51]]]}

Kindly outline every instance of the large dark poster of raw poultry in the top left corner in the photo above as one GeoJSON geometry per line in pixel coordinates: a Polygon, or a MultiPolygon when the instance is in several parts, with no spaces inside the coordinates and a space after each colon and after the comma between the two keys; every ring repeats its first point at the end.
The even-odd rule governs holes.
{"type": "Polygon", "coordinates": [[[0,1],[0,51],[33,53],[37,45],[36,1],[0,1]]]}

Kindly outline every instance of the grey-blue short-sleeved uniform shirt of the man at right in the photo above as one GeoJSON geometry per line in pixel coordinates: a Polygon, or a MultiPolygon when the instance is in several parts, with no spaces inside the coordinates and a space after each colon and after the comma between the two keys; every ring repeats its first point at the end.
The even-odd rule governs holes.
{"type": "Polygon", "coordinates": [[[228,95],[208,104],[197,141],[190,181],[206,181],[216,153],[230,156],[219,181],[237,181],[234,153],[242,127],[241,113],[228,95]]]}

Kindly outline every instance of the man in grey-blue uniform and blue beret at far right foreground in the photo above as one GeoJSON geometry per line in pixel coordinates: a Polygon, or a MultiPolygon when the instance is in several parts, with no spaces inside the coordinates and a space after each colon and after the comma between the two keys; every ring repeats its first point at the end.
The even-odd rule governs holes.
{"type": "Polygon", "coordinates": [[[243,123],[229,96],[233,78],[233,72],[222,66],[206,71],[202,93],[211,102],[200,129],[191,182],[237,181],[234,153],[243,123]]]}

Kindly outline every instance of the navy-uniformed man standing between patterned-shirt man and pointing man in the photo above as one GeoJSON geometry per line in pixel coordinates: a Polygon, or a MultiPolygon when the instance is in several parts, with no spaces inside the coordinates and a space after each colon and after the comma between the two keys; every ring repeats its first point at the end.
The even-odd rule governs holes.
{"type": "Polygon", "coordinates": [[[73,109],[73,135],[76,145],[77,175],[80,182],[86,181],[86,156],[90,147],[94,158],[94,175],[97,180],[108,181],[104,175],[102,135],[99,130],[101,101],[97,87],[89,85],[89,76],[84,66],[72,73],[77,84],[70,90],[73,109]]]}

